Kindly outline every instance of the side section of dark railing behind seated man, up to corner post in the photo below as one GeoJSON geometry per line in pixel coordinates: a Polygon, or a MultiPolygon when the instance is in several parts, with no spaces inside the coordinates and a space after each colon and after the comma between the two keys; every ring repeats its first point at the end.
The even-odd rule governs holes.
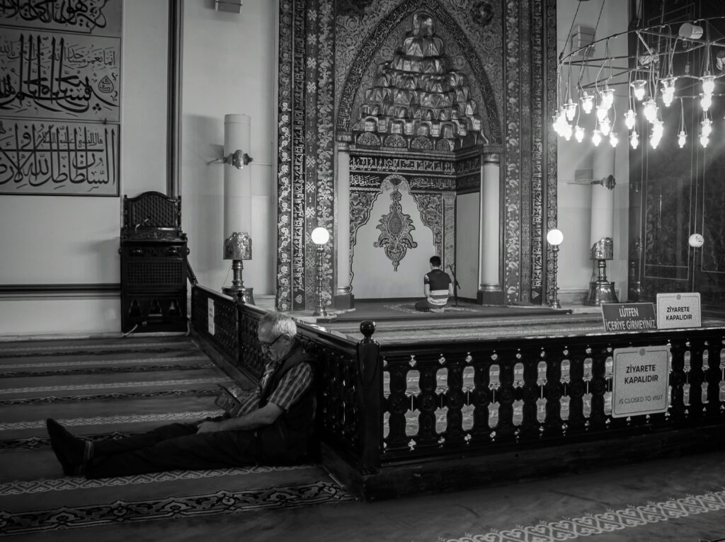
{"type": "MultiPolygon", "coordinates": [[[[265,358],[257,339],[257,325],[266,311],[202,286],[194,286],[191,299],[194,333],[248,378],[258,380],[265,358]],[[210,303],[214,307],[211,328],[210,303]]],[[[374,327],[368,329],[370,335],[373,331],[374,327]]],[[[297,322],[297,333],[305,349],[318,360],[315,381],[320,440],[361,471],[375,470],[382,446],[378,344],[371,340],[358,343],[304,322],[297,322]],[[376,396],[374,401],[370,394],[376,396]]]]}

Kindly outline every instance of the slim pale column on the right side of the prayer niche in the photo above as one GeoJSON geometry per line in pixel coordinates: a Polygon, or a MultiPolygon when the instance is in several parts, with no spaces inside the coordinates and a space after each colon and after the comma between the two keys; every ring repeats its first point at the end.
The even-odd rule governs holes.
{"type": "Polygon", "coordinates": [[[500,167],[501,157],[497,153],[481,156],[481,217],[479,220],[479,292],[481,304],[500,305],[504,303],[501,285],[500,249],[500,167]]]}

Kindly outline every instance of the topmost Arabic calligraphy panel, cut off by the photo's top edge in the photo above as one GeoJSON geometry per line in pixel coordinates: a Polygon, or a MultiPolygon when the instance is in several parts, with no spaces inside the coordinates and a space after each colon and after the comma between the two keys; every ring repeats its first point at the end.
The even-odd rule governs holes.
{"type": "Polygon", "coordinates": [[[5,24],[46,30],[121,36],[119,0],[3,0],[0,20],[5,24]]]}

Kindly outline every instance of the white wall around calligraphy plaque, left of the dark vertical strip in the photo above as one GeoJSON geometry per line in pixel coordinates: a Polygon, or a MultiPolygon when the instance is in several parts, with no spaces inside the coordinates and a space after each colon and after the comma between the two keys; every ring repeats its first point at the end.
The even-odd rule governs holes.
{"type": "MultiPolygon", "coordinates": [[[[120,194],[166,186],[167,6],[123,2],[120,194]]],[[[120,282],[120,198],[0,196],[0,284],[120,282]]],[[[120,330],[117,293],[5,295],[0,335],[120,330]]]]}

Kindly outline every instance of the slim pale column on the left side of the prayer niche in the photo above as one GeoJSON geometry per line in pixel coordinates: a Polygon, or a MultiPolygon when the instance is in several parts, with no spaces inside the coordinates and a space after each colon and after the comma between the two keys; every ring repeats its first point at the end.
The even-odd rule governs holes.
{"type": "Polygon", "coordinates": [[[350,285],[350,154],[349,143],[337,143],[337,186],[335,191],[336,309],[355,307],[350,285]]]}

